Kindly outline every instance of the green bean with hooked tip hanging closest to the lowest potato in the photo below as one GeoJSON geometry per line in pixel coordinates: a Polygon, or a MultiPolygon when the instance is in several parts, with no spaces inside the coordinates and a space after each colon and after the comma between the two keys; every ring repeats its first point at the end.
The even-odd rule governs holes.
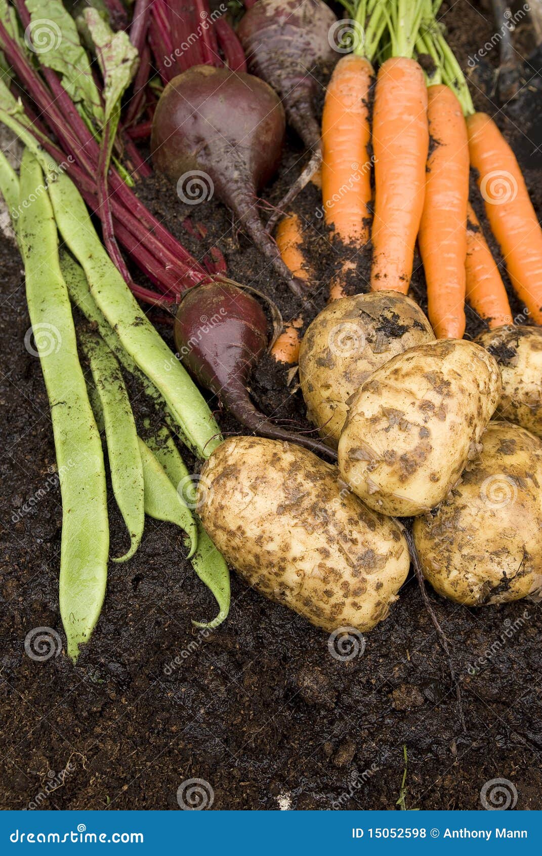
{"type": "MultiPolygon", "coordinates": [[[[162,464],[168,475],[168,479],[178,490],[181,496],[187,496],[192,508],[196,504],[196,490],[191,480],[190,473],[180,456],[173,437],[167,428],[162,428],[155,437],[147,440],[150,449],[162,464]]],[[[194,513],[197,523],[197,550],[191,558],[192,567],[199,579],[208,587],[214,595],[219,606],[219,613],[213,621],[192,621],[196,627],[218,627],[227,618],[230,609],[230,572],[227,562],[221,552],[216,549],[215,544],[203,529],[201,520],[194,513]]]]}

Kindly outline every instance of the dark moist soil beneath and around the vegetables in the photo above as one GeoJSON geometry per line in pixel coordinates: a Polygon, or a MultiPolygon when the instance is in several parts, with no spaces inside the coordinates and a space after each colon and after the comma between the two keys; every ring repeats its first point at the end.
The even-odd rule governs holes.
{"type": "MultiPolygon", "coordinates": [[[[493,32],[488,4],[452,5],[444,21],[467,67],[493,32]]],[[[496,62],[498,51],[490,51],[471,75],[477,106],[497,117],[542,213],[541,56],[530,56],[521,96],[504,109],[492,100],[496,62]]],[[[272,202],[298,174],[301,158],[289,140],[269,190],[272,202]]],[[[183,217],[206,223],[233,278],[272,295],[285,318],[298,312],[221,205],[213,200],[183,211],[160,180],[146,181],[140,193],[192,248],[183,217]]],[[[319,205],[312,186],[298,202],[319,278],[307,321],[324,305],[342,252],[327,240],[319,205]]],[[[55,450],[44,383],[23,344],[29,320],[21,261],[8,241],[0,252],[0,805],[177,809],[180,784],[200,778],[213,788],[217,809],[389,809],[398,800],[406,746],[407,808],[480,809],[480,788],[496,778],[513,783],[518,809],[542,808],[542,615],[529,601],[465,609],[429,592],[460,676],[465,732],[415,580],[368,635],[365,651],[347,662],[331,656],[327,634],[235,574],[227,622],[201,634],[191,618],[214,615],[213,599],[184,560],[180,533],[153,520],[133,560],[110,565],[103,615],[77,666],[63,651],[44,662],[27,656],[24,642],[34,628],[53,628],[63,639],[61,504],[51,478],[55,450]]],[[[368,259],[361,259],[352,288],[367,288],[367,272],[368,259]]],[[[423,305],[419,264],[413,292],[423,305]]],[[[469,313],[468,334],[479,326],[469,313]]],[[[162,332],[171,342],[171,330],[162,332]]],[[[306,426],[295,379],[288,388],[286,372],[270,360],[255,372],[253,392],[265,412],[306,426]]],[[[141,398],[134,410],[139,422],[148,415],[141,398]]],[[[225,431],[239,431],[233,420],[220,419],[225,431]]],[[[113,531],[122,533],[113,502],[111,516],[113,531]]],[[[121,550],[122,534],[115,539],[121,550]]]]}

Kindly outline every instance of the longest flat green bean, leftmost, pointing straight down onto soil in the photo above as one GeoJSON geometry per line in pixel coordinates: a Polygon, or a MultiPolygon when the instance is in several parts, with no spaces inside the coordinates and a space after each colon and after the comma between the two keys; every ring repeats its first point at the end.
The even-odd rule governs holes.
{"type": "Polygon", "coordinates": [[[42,170],[28,150],[21,163],[20,199],[28,312],[49,396],[62,494],[60,611],[68,656],[75,662],[79,646],[96,626],[105,595],[109,552],[105,467],[60,270],[55,218],[42,170]]]}

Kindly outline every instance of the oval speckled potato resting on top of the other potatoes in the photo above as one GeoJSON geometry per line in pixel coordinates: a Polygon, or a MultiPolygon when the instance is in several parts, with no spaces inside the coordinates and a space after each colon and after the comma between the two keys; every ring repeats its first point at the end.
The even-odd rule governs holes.
{"type": "Polygon", "coordinates": [[[398,354],[349,404],[343,479],[384,514],[433,508],[476,454],[500,390],[496,361],[473,342],[441,339],[398,354]]]}

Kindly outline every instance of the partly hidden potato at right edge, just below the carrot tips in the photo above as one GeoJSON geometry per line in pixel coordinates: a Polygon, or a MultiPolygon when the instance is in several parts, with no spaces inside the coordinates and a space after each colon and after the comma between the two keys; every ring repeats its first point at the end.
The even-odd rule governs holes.
{"type": "Polygon", "coordinates": [[[475,341],[495,357],[503,377],[495,417],[542,437],[542,329],[510,324],[488,330],[475,341]]]}

